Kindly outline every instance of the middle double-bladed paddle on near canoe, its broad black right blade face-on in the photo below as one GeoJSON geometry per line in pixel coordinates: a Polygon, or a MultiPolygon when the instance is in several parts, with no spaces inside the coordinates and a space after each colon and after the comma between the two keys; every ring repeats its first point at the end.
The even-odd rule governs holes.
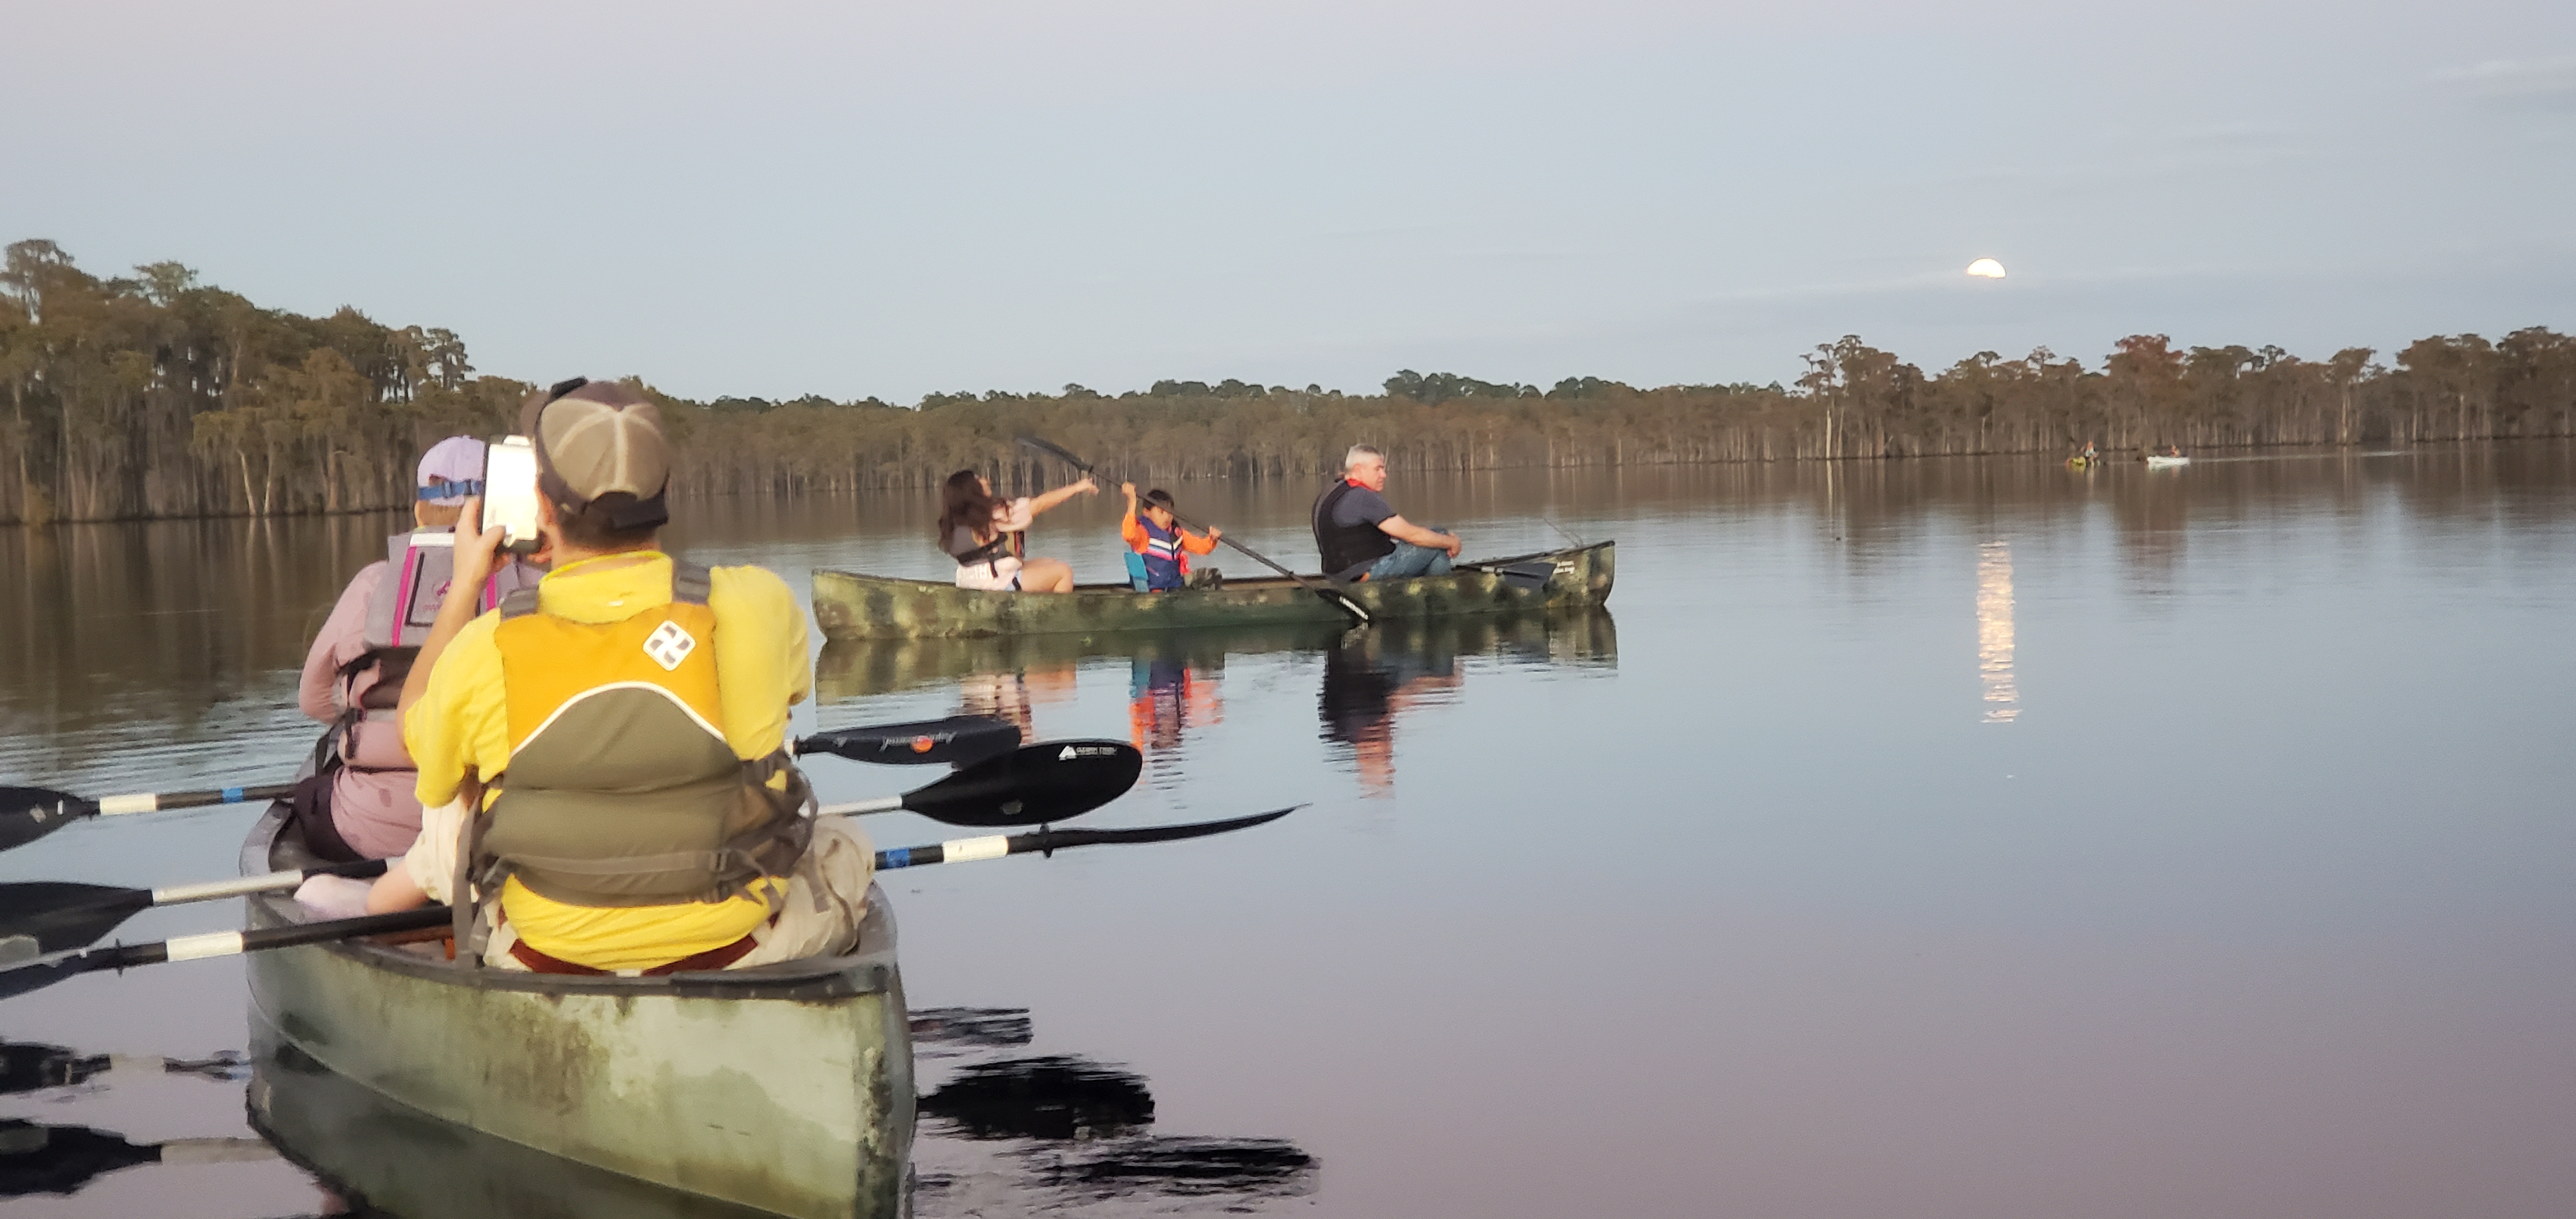
{"type": "MultiPolygon", "coordinates": [[[[1020,729],[1012,727],[1010,732],[1018,734],[1020,729]]],[[[1139,773],[1144,773],[1144,755],[1133,745],[1115,740],[1059,740],[984,758],[902,796],[824,804],[822,814],[917,812],[935,822],[966,827],[1066,822],[1126,796],[1136,786],[1139,773]]],[[[118,923],[157,905],[283,892],[312,876],[381,874],[384,861],[371,858],[327,869],[237,876],[229,881],[173,884],[165,889],[67,881],[0,884],[0,966],[98,943],[118,923]]]]}

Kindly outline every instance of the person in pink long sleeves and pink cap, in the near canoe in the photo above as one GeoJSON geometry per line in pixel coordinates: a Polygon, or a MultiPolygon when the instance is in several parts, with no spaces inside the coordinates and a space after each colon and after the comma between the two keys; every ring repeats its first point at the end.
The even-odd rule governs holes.
{"type": "MultiPolygon", "coordinates": [[[[484,443],[448,436],[420,454],[412,479],[412,523],[394,533],[386,557],[366,564],[332,606],[330,621],[304,655],[296,706],[335,727],[319,773],[301,781],[294,814],[307,845],[325,858],[392,858],[420,838],[420,799],[412,796],[412,755],[402,750],[394,701],[420,639],[446,595],[456,518],[466,495],[482,492],[484,443]]],[[[487,603],[536,572],[510,564],[484,590],[487,603]]]]}

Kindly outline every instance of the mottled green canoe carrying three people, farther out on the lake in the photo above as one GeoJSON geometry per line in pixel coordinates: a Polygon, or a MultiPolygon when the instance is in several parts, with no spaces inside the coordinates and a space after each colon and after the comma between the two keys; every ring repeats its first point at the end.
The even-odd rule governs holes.
{"type": "MultiPolygon", "coordinates": [[[[1458,564],[1448,575],[1342,585],[1376,619],[1437,619],[1600,606],[1615,575],[1613,541],[1458,564]]],[[[935,580],[814,570],[814,621],[829,639],[987,639],[999,634],[1188,631],[1211,626],[1350,624],[1296,580],[1136,593],[981,593],[935,580]]]]}

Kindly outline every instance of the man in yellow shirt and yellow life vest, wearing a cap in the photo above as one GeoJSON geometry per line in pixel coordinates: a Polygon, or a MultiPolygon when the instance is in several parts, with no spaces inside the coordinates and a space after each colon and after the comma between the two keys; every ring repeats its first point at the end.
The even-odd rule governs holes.
{"type": "MultiPolygon", "coordinates": [[[[739,969],[848,951],[873,853],[788,760],[804,608],[760,567],[657,549],[659,412],[623,384],[531,394],[551,570],[484,613],[451,593],[402,691],[420,840],[366,894],[471,892],[459,959],[556,974],[739,969]]],[[[456,585],[502,531],[466,505],[456,585]]]]}

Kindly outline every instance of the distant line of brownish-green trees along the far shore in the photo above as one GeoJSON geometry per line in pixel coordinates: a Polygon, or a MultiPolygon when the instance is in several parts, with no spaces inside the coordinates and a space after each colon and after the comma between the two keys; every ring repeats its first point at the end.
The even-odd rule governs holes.
{"type": "MultiPolygon", "coordinates": [[[[100,278],[54,242],[18,242],[0,268],[0,523],[397,508],[425,443],[507,430],[526,392],[479,376],[448,330],[260,309],[178,263],[100,278]]],[[[2383,363],[2370,348],[2306,361],[2133,335],[2099,369],[2043,348],[1924,374],[1847,335],[1788,387],[1569,376],[1540,389],[1406,369],[1378,394],[1226,379],[909,407],[662,402],[683,495],[930,487],[963,466],[1061,477],[1012,446],[1018,433],[1164,482],[1321,477],[1363,441],[1396,469],[2058,456],[2087,441],[2117,454],[2576,436],[2576,340],[2434,335],[2383,363]]]]}

